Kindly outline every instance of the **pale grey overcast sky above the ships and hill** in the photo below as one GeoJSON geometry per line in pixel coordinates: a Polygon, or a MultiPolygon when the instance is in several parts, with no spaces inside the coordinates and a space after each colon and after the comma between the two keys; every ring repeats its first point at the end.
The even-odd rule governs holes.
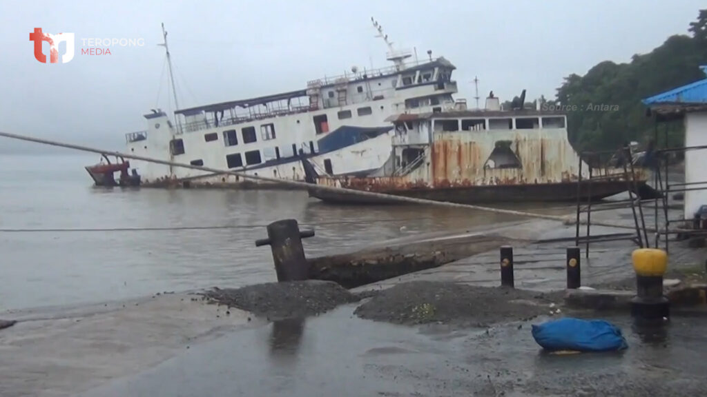
{"type": "MultiPolygon", "coordinates": [[[[570,73],[630,61],[686,34],[703,1],[3,1],[0,131],[122,149],[142,114],[167,108],[160,23],[169,32],[180,107],[305,88],[306,81],[387,66],[375,17],[397,47],[457,66],[460,95],[554,97],[570,73]],[[29,33],[73,32],[67,64],[41,64],[29,33]],[[82,55],[83,38],[144,38],[144,47],[82,55]]],[[[60,50],[60,52],[63,50],[60,50]]],[[[47,50],[45,49],[45,53],[47,50]]],[[[11,142],[0,138],[0,151],[11,142]]],[[[13,147],[14,148],[14,147],[13,147]]]]}

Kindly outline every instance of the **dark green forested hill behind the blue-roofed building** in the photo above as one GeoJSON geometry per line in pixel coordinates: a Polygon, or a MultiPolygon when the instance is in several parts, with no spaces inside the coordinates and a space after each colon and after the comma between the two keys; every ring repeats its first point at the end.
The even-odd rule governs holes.
{"type": "MultiPolygon", "coordinates": [[[[707,64],[707,10],[699,11],[688,31],[691,35],[674,35],[652,52],[634,55],[630,63],[603,61],[585,76],[564,78],[551,102],[578,109],[567,113],[575,148],[612,150],[625,141],[645,142],[653,136],[653,122],[645,117],[641,100],[705,78],[698,66],[707,64]]],[[[671,145],[682,144],[682,131],[680,125],[671,126],[671,145]]]]}

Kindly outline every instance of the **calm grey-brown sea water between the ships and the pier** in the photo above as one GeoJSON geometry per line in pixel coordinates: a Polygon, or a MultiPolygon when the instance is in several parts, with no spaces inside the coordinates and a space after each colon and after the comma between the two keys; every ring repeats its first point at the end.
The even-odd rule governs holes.
{"type": "Polygon", "coordinates": [[[308,255],[511,220],[450,208],[332,206],[299,191],[97,188],[83,167],[98,160],[71,152],[1,155],[0,229],[237,227],[0,231],[0,310],[273,281],[269,247],[254,242],[266,237],[265,225],[283,218],[313,225],[308,255]]]}

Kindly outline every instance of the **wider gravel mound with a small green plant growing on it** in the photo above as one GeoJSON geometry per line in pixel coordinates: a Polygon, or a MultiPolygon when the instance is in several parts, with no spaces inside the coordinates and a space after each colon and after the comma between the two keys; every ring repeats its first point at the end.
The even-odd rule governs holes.
{"type": "Polygon", "coordinates": [[[355,313],[363,319],[394,324],[443,323],[486,327],[501,321],[520,321],[549,314],[548,305],[552,302],[561,302],[561,295],[413,281],[378,292],[361,304],[355,313]]]}

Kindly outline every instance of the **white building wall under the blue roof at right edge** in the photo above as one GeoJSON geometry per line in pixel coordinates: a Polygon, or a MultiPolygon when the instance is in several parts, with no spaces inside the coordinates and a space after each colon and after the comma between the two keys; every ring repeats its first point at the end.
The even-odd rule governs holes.
{"type": "MultiPolygon", "coordinates": [[[[685,146],[707,146],[707,112],[688,113],[685,116],[685,146]]],[[[685,183],[707,181],[707,149],[685,152],[685,183]]],[[[707,187],[707,184],[688,185],[686,188],[707,187]]],[[[690,219],[703,204],[707,204],[707,190],[685,192],[685,219],[690,219]]]]}

